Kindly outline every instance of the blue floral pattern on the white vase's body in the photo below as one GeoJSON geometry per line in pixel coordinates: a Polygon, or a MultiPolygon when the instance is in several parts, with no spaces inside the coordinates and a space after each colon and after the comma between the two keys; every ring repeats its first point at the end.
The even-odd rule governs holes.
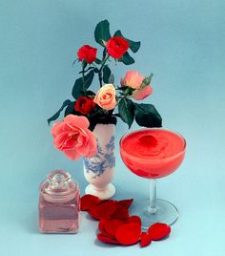
{"type": "Polygon", "coordinates": [[[106,169],[114,167],[114,136],[110,139],[110,142],[105,145],[105,149],[104,151],[97,139],[97,154],[90,159],[84,158],[86,172],[94,173],[95,176],[93,178],[101,176],[106,169]]]}

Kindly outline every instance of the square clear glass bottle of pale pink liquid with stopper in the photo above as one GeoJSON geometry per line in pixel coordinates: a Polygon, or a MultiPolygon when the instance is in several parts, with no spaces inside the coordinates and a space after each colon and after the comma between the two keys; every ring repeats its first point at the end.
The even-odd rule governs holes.
{"type": "Polygon", "coordinates": [[[76,233],[80,221],[80,191],[71,175],[51,171],[40,184],[39,228],[44,233],[76,233]]]}

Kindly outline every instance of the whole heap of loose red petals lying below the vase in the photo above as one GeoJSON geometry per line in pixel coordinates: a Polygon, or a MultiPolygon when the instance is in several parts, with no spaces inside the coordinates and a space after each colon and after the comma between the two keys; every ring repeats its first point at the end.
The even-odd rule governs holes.
{"type": "Polygon", "coordinates": [[[95,196],[85,195],[81,198],[81,210],[88,211],[92,218],[99,221],[97,239],[106,244],[150,245],[152,241],[161,240],[171,233],[168,224],[152,224],[147,232],[141,230],[141,219],[130,216],[129,207],[133,199],[101,201],[95,196]]]}

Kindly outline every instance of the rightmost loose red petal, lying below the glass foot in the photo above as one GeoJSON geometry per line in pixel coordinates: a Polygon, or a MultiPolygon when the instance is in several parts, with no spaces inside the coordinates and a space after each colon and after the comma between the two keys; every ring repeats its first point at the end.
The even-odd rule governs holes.
{"type": "Polygon", "coordinates": [[[168,224],[152,224],[149,228],[149,234],[153,241],[163,239],[169,236],[171,233],[171,227],[168,224]]]}

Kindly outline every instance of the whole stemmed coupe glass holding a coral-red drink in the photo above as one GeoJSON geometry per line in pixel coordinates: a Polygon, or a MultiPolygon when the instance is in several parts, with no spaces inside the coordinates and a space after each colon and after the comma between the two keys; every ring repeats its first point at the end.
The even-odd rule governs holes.
{"type": "Polygon", "coordinates": [[[173,173],[184,159],[185,139],[170,130],[149,128],[133,131],[120,139],[120,155],[137,176],[149,179],[150,198],[133,203],[131,213],[138,215],[142,228],[151,224],[174,224],[178,211],[173,203],[156,199],[156,180],[173,173]]]}

